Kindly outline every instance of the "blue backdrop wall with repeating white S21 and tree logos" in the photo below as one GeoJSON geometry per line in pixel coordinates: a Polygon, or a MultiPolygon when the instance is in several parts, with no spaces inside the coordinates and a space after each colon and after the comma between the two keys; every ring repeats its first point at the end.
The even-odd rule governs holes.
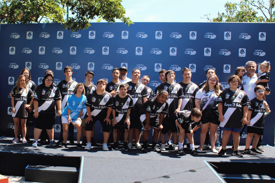
{"type": "MultiPolygon", "coordinates": [[[[215,68],[220,83],[228,88],[228,77],[249,60],[274,62],[275,24],[273,23],[91,23],[86,30],[71,32],[61,24],[1,24],[0,30],[0,132],[13,135],[11,98],[21,70],[29,68],[32,80],[41,84],[46,69],[54,72],[57,85],[65,79],[63,69],[73,68],[73,78],[84,82],[87,70],[95,73],[93,82],[111,81],[112,69],[122,65],[141,75],[149,75],[153,90],[160,84],[158,71],[172,69],[176,81],[182,81],[182,69],[192,71],[192,81],[206,80],[207,68],[215,68]]],[[[258,73],[258,68],[256,73],[258,73]]],[[[267,102],[272,110],[266,117],[263,143],[274,145],[273,70],[269,81],[272,93],[267,102]]],[[[95,139],[102,139],[101,125],[96,126],[95,139]]],[[[32,129],[31,129],[32,131],[32,129]]],[[[33,133],[33,132],[31,132],[33,133]]],[[[60,119],[56,119],[55,137],[60,135],[60,119]]],[[[198,143],[199,131],[195,134],[198,143]]],[[[246,134],[241,138],[245,143],[246,134]]]]}

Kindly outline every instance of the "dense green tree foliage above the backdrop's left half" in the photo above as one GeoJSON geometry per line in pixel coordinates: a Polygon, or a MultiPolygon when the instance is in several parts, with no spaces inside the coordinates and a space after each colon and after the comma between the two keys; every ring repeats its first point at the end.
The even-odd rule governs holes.
{"type": "Polygon", "coordinates": [[[29,24],[53,22],[62,23],[63,28],[77,31],[87,29],[91,20],[99,17],[115,23],[119,19],[125,24],[133,24],[125,17],[121,0],[3,0],[0,2],[1,24],[29,24]],[[69,7],[73,17],[64,19],[65,8],[69,7]]]}

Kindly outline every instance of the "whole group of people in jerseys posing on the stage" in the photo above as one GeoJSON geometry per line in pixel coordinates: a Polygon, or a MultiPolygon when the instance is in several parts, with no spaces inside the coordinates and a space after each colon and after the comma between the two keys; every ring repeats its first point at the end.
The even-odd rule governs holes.
{"type": "Polygon", "coordinates": [[[140,78],[141,71],[138,68],[133,69],[132,79],[127,77],[126,67],[114,68],[110,83],[100,79],[94,85],[91,82],[93,72],[86,72],[85,82],[77,83],[72,79],[72,68],[66,66],[65,80],[56,86],[53,83],[53,72],[47,70],[38,87],[31,81],[29,69],[25,68],[10,94],[15,124],[15,139],[12,142],[20,141],[18,135],[21,129],[22,143],[30,141],[29,129],[34,124],[33,147],[38,146],[40,135],[44,142],[47,133],[50,145],[60,144],[61,148],[66,148],[68,138],[70,144],[74,144],[75,127],[76,146],[85,146],[86,150],[90,150],[97,145],[94,134],[95,123],[99,121],[103,132],[103,150],[109,150],[107,143],[112,131],[112,150],[118,150],[122,146],[123,150],[129,151],[134,144],[137,149],[147,153],[149,132],[154,129],[151,151],[164,151],[169,146],[179,155],[186,155],[183,149],[186,135],[191,155],[198,155],[198,152],[209,147],[207,134],[210,131],[213,153],[226,155],[226,146],[232,133],[232,155],[242,157],[239,151],[240,133],[247,125],[244,153],[261,154],[264,150],[258,141],[264,132],[264,116],[270,113],[265,101],[265,95],[270,94],[270,63],[264,61],[259,67],[260,74],[255,74],[257,64],[253,61],[248,61],[246,68],[238,67],[236,73],[228,79],[228,89],[224,89],[219,83],[213,68],[207,69],[207,81],[199,86],[191,81],[189,68],[183,68],[183,81],[179,83],[175,82],[176,74],[173,70],[162,69],[159,72],[162,83],[156,87],[155,92],[147,86],[150,77],[144,75],[140,78]],[[245,71],[247,75],[243,76],[245,71]],[[61,117],[62,123],[57,143],[53,139],[56,115],[61,117]],[[33,120],[35,123],[30,123],[33,120]],[[200,146],[195,150],[193,133],[200,127],[200,146]],[[216,139],[220,130],[223,130],[222,147],[220,140],[216,139]],[[83,140],[80,143],[82,134],[83,140]],[[160,144],[157,145],[159,136],[160,144]]]}

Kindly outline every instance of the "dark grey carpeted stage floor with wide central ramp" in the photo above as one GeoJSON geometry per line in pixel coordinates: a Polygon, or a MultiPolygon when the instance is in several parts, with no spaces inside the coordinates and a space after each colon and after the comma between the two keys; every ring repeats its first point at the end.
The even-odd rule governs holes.
{"type": "MultiPolygon", "coordinates": [[[[83,171],[80,172],[80,175],[82,175],[80,182],[85,183],[230,182],[231,177],[236,178],[235,172],[233,172],[233,174],[229,174],[232,172],[228,172],[227,174],[227,172],[219,172],[219,170],[221,170],[221,167],[225,170],[226,168],[230,169],[230,167],[234,167],[235,165],[237,166],[237,173],[240,174],[237,175],[237,179],[243,178],[247,180],[247,178],[253,178],[253,180],[258,180],[261,183],[264,183],[265,180],[275,182],[274,175],[268,176],[262,173],[265,171],[263,167],[268,167],[268,169],[266,169],[267,172],[270,172],[270,170],[274,172],[275,148],[272,146],[263,146],[264,153],[261,155],[244,155],[243,158],[238,158],[232,156],[233,150],[231,146],[228,146],[226,156],[219,157],[217,154],[212,153],[209,148],[199,153],[198,156],[190,155],[191,150],[185,148],[187,155],[179,156],[176,151],[169,149],[161,153],[149,152],[144,154],[136,148],[132,148],[131,151],[103,151],[101,147],[84,150],[84,147],[83,149],[79,149],[76,146],[68,145],[67,148],[62,149],[61,146],[50,146],[46,144],[42,144],[38,146],[38,148],[33,148],[31,143],[11,144],[11,142],[11,137],[2,137],[0,139],[0,151],[23,154],[83,156],[83,171]],[[224,164],[223,162],[230,164],[224,164]],[[259,171],[257,171],[257,167],[259,167],[259,171]],[[256,171],[251,172],[251,175],[247,175],[247,171],[242,170],[248,168],[256,171]],[[256,176],[257,173],[255,172],[261,172],[261,176],[256,176]],[[226,179],[222,177],[226,177],[226,179]]],[[[111,149],[110,146],[108,147],[111,149]]],[[[240,146],[240,150],[242,152],[244,146],[240,146]]]]}

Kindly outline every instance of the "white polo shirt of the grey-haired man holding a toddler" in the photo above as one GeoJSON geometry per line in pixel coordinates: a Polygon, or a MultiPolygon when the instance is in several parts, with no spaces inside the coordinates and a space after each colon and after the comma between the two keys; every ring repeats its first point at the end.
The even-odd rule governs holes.
{"type": "Polygon", "coordinates": [[[256,97],[254,88],[256,86],[257,80],[258,80],[258,77],[256,74],[254,74],[251,78],[246,75],[241,80],[243,90],[246,92],[249,100],[252,100],[253,98],[256,97]]]}

